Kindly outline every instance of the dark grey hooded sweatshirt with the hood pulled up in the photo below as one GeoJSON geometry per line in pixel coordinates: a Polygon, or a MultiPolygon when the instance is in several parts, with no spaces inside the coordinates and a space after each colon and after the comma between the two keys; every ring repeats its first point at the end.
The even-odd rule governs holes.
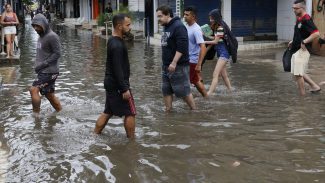
{"type": "Polygon", "coordinates": [[[61,56],[59,36],[51,30],[48,21],[42,14],[35,15],[32,25],[39,25],[43,28],[43,33],[37,41],[34,64],[36,73],[59,73],[58,60],[61,56]]]}

